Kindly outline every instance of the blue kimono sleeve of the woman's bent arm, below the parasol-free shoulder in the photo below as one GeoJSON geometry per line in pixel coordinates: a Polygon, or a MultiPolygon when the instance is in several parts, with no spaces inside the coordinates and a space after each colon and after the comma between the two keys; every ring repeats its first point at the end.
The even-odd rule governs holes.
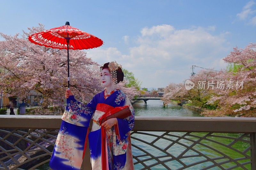
{"type": "Polygon", "coordinates": [[[126,96],[124,106],[129,106],[132,115],[124,119],[116,118],[117,125],[115,125],[116,137],[118,140],[124,140],[128,137],[128,132],[134,127],[134,109],[129,98],[126,96]]]}

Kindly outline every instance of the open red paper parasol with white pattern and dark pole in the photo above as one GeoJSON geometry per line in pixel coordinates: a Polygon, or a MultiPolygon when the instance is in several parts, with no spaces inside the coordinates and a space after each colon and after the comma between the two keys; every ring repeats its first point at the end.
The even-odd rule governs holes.
{"type": "MultiPolygon", "coordinates": [[[[69,25],[59,26],[28,36],[28,40],[45,47],[58,49],[89,49],[97,48],[103,41],[92,34],[81,31],[69,25]]],[[[69,89],[69,53],[68,53],[68,89],[69,89]]]]}

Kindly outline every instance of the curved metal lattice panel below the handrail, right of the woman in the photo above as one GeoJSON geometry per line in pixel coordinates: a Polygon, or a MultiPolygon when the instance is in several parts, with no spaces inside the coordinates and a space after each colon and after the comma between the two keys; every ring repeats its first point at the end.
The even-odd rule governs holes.
{"type": "Polygon", "coordinates": [[[250,134],[132,132],[135,169],[251,169],[250,134]]]}

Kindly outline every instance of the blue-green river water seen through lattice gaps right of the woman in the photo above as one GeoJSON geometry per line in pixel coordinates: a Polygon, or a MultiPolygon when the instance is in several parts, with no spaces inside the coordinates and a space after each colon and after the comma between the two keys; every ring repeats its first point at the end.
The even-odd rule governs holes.
{"type": "MultiPolygon", "coordinates": [[[[236,166],[237,164],[234,161],[230,161],[231,159],[237,159],[238,164],[243,164],[245,169],[251,169],[250,159],[247,159],[247,156],[250,156],[250,151],[246,152],[246,157],[239,153],[239,151],[243,152],[246,148],[250,146],[249,136],[243,136],[244,134],[240,133],[186,133],[186,132],[169,132],[168,134],[164,135],[164,132],[145,132],[146,134],[132,134],[132,144],[136,145],[137,147],[141,148],[142,150],[132,147],[132,154],[136,156],[145,155],[143,152],[146,151],[148,153],[151,153],[154,157],[160,157],[159,160],[164,161],[167,159],[172,159],[170,161],[166,161],[164,164],[171,169],[179,169],[182,168],[183,165],[175,160],[182,152],[187,150],[185,156],[189,156],[188,158],[180,158],[179,161],[184,163],[185,165],[189,166],[189,164],[198,162],[198,161],[204,161],[198,165],[190,166],[186,169],[202,169],[207,168],[208,166],[214,165],[214,163],[220,164],[219,166],[228,169],[232,166],[236,166]],[[148,135],[147,135],[148,134],[148,135]],[[156,136],[163,136],[161,139],[157,140],[153,143],[153,147],[149,145],[148,143],[151,143],[156,140],[156,136],[150,136],[151,134],[156,136]],[[180,139],[182,137],[182,139],[180,139]],[[202,137],[205,137],[205,139],[200,139],[202,137]],[[224,138],[229,137],[229,138],[224,138]],[[238,138],[242,138],[245,142],[236,142],[238,138]],[[144,141],[141,142],[140,140],[144,141]],[[168,140],[170,139],[170,140],[168,140]],[[247,142],[246,142],[247,141],[247,142]],[[168,147],[169,144],[172,144],[171,147],[168,147]],[[219,142],[219,143],[215,143],[219,142]],[[233,142],[236,142],[235,144],[232,144],[233,142]],[[195,144],[196,143],[196,144],[195,144]],[[222,145],[223,144],[223,145],[222,145]],[[227,146],[232,144],[231,148],[228,148],[227,146]],[[164,152],[160,151],[158,148],[165,150],[169,154],[171,154],[171,157],[165,154],[164,152]],[[168,149],[166,149],[168,148],[168,149]],[[238,151],[238,152],[236,152],[238,151]],[[204,154],[205,156],[201,156],[201,154],[204,154]],[[223,158],[225,156],[226,158],[223,158]],[[205,157],[208,157],[212,160],[206,160],[205,157]]],[[[150,159],[150,156],[142,156],[139,157],[140,161],[143,161],[144,159],[150,159]]],[[[136,164],[137,160],[133,159],[135,163],[135,169],[141,169],[144,166],[142,164],[136,164]]],[[[157,163],[156,160],[151,159],[144,162],[147,166],[150,166],[154,163],[157,163]]],[[[218,166],[214,166],[209,169],[221,169],[218,166]]],[[[166,169],[163,165],[156,165],[151,167],[150,169],[166,169]]],[[[233,168],[233,169],[242,169],[241,167],[233,168]]]]}

